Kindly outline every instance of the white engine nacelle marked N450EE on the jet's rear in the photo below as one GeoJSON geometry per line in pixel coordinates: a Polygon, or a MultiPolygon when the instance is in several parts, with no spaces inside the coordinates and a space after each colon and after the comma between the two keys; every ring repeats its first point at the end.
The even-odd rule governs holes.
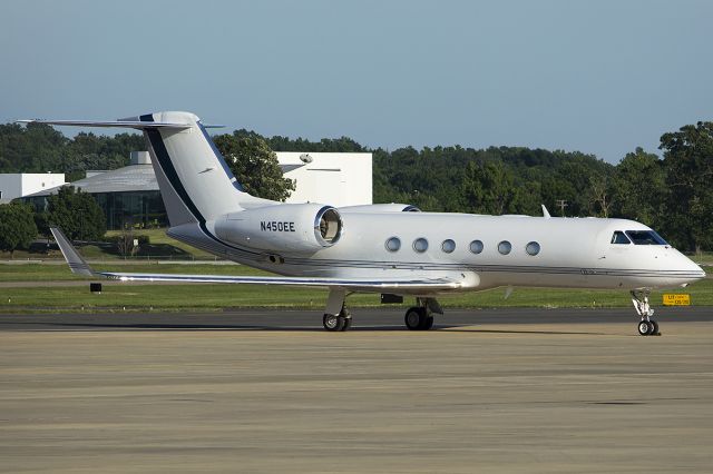
{"type": "Polygon", "coordinates": [[[339,211],[321,204],[281,204],[231,213],[215,220],[215,234],[232,244],[271,253],[311,253],[342,236],[339,211]]]}

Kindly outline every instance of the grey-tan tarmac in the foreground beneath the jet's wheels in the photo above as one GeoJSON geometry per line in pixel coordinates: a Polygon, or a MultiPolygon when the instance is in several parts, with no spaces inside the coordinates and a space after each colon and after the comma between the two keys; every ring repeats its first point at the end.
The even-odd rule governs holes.
{"type": "Polygon", "coordinates": [[[710,472],[712,313],[0,315],[0,472],[710,472]]]}

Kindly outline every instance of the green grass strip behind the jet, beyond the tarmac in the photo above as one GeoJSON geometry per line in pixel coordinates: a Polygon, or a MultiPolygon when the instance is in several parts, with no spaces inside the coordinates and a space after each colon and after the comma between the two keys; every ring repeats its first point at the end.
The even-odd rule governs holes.
{"type": "MultiPolygon", "coordinates": [[[[28,265],[19,271],[6,274],[0,266],[0,280],[16,278],[27,271],[23,280],[52,280],[57,271],[69,271],[57,266],[28,265]],[[38,270],[35,267],[40,267],[38,270]],[[41,278],[47,276],[47,278],[41,278]]],[[[126,265],[119,268],[125,271],[145,271],[147,266],[126,265]]],[[[212,265],[152,265],[150,271],[193,273],[222,275],[257,275],[258,270],[247,267],[212,266],[212,265]]],[[[16,268],[11,268],[16,270],[16,268]]],[[[70,275],[70,274],[69,274],[70,275]]],[[[71,279],[68,277],[67,279],[71,279]]],[[[661,306],[663,292],[655,292],[652,302],[661,306]]],[[[713,278],[676,292],[691,295],[695,306],[713,306],[713,278]]],[[[489,308],[489,307],[628,307],[628,293],[622,290],[585,290],[585,289],[543,289],[516,288],[512,295],[504,298],[505,290],[492,289],[479,293],[449,295],[439,298],[445,307],[489,308]]],[[[101,295],[89,293],[87,285],[75,287],[0,287],[0,312],[37,312],[37,310],[223,310],[233,307],[294,307],[321,310],[326,298],[326,290],[311,288],[265,287],[258,285],[105,285],[101,295]]],[[[351,307],[379,306],[379,295],[353,295],[348,304],[351,307]]],[[[406,300],[403,306],[412,304],[406,300]]]]}

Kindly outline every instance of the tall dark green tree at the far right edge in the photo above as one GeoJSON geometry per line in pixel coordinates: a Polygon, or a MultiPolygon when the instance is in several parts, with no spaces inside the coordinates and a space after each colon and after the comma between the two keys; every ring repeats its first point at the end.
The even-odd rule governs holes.
{"type": "Polygon", "coordinates": [[[667,235],[686,250],[713,248],[713,122],[664,134],[667,235]]]}

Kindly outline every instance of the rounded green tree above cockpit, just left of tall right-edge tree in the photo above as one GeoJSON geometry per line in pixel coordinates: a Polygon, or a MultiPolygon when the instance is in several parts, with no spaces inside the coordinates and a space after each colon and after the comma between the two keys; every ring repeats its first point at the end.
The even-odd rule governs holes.
{"type": "Polygon", "coordinates": [[[626,154],[614,171],[614,215],[653,228],[662,224],[666,182],[663,162],[637,147],[626,154]]]}

